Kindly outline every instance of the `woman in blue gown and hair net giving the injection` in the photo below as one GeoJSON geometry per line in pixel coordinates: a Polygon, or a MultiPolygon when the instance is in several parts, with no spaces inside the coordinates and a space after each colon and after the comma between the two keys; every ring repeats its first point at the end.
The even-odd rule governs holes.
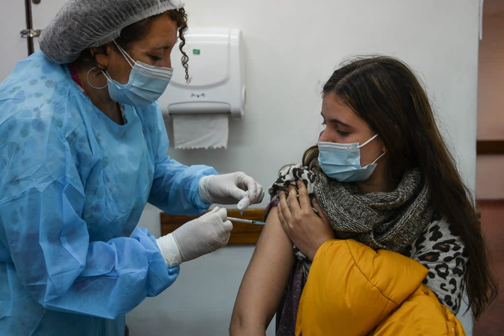
{"type": "Polygon", "coordinates": [[[167,155],[156,100],[186,28],[179,0],[71,0],[0,84],[0,334],[123,335],[232,229],[215,208],[156,239],[136,228],[147,202],[197,215],[262,200],[244,173],[167,155]]]}

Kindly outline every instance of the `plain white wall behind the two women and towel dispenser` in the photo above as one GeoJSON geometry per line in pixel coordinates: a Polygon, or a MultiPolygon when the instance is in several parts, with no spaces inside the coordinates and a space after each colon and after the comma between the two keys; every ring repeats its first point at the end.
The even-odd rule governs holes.
{"type": "MultiPolygon", "coordinates": [[[[245,171],[267,188],[281,166],[299,162],[316,141],[321,86],[340,60],[384,53],[402,58],[427,83],[462,175],[474,190],[478,3],[188,0],[190,26],[243,31],[247,108],[243,120],[230,122],[227,150],[171,148],[170,155],[188,165],[212,165],[222,173],[245,171]]],[[[172,125],[167,126],[171,133],[172,125]]],[[[259,206],[267,202],[265,197],[259,206]]],[[[158,211],[148,207],[143,224],[159,232],[158,217],[158,211]]],[[[183,264],[172,287],[128,315],[132,335],[226,334],[252,251],[226,247],[183,264]]],[[[470,318],[463,323],[472,334],[470,318]]]]}

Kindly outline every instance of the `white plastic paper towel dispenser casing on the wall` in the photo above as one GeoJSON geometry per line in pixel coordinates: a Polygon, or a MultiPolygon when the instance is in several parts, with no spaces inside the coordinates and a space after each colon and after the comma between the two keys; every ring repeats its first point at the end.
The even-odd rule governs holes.
{"type": "Polygon", "coordinates": [[[190,28],[184,51],[189,56],[191,83],[185,82],[178,48],[171,52],[173,77],[158,99],[163,116],[229,113],[243,117],[245,70],[243,38],[236,28],[190,28]]]}

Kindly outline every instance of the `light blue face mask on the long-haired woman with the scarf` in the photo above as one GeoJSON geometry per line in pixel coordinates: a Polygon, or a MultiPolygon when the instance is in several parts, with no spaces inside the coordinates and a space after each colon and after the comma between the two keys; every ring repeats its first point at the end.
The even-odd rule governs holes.
{"type": "Polygon", "coordinates": [[[319,141],[319,165],[327,176],[340,182],[356,182],[366,180],[376,167],[376,161],[385,155],[383,153],[370,164],[360,166],[360,149],[376,138],[375,135],[362,145],[359,143],[336,144],[319,141]]]}

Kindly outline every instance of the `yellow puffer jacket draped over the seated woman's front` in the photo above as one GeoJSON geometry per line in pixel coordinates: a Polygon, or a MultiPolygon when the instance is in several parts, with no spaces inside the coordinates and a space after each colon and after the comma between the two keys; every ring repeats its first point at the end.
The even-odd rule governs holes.
{"type": "Polygon", "coordinates": [[[422,284],[427,269],[399,253],[331,239],[313,258],[296,336],[465,335],[460,321],[422,284]]]}

